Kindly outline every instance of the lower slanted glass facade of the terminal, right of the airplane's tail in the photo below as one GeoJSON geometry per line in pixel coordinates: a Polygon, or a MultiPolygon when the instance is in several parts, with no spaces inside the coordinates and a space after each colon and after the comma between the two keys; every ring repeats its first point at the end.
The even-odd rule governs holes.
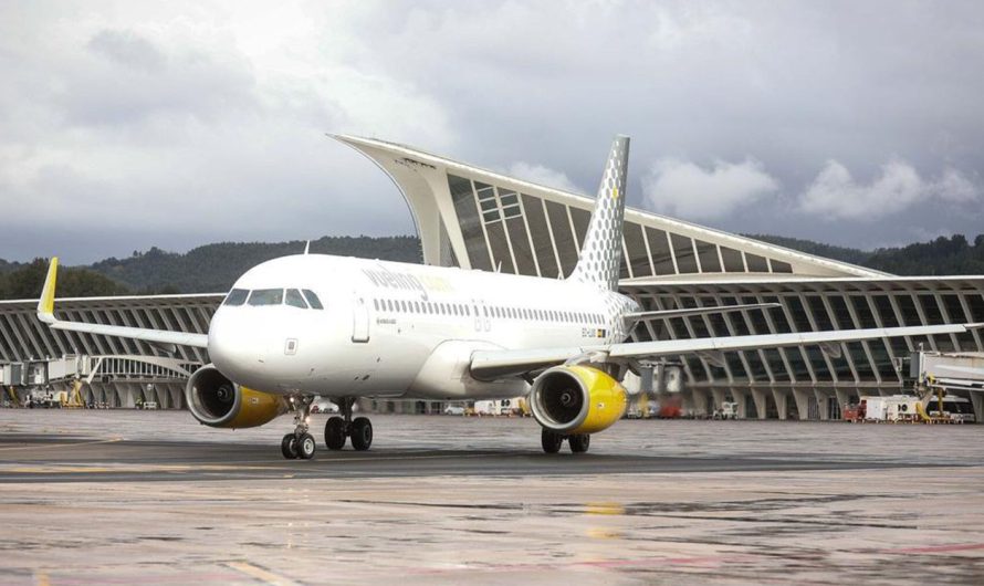
{"type": "MultiPolygon", "coordinates": [[[[666,283],[627,285],[625,293],[642,306],[658,310],[736,303],[782,305],[647,322],[645,333],[639,333],[643,326],[634,333],[639,341],[964,323],[978,318],[972,307],[984,310],[984,279],[959,276],[925,281],[666,283]]],[[[805,384],[856,393],[860,388],[899,389],[908,370],[899,372],[897,366],[904,364],[919,344],[941,352],[984,352],[982,332],[977,329],[961,336],[896,337],[826,348],[807,345],[731,352],[724,353],[723,367],[711,364],[706,357],[681,358],[687,383],[695,388],[805,384]]]]}

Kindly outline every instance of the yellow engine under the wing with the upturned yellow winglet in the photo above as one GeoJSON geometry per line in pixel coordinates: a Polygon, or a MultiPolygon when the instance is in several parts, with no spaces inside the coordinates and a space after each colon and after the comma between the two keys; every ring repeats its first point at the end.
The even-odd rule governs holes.
{"type": "Polygon", "coordinates": [[[212,365],[191,375],[185,399],[195,419],[210,427],[258,427],[285,414],[286,399],[232,383],[212,365]]]}

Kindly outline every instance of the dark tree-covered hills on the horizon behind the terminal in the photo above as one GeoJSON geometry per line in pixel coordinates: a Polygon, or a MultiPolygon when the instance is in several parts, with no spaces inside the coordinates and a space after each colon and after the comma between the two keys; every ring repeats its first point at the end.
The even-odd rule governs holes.
{"type": "MultiPolygon", "coordinates": [[[[984,274],[984,234],[971,243],[961,234],[940,237],[900,248],[871,251],[833,247],[810,240],[751,234],[772,242],[899,275],[984,274]]],[[[304,242],[222,242],[179,254],[151,248],[126,259],[106,259],[91,266],[64,269],[59,276],[59,295],[64,297],[140,293],[211,293],[228,291],[232,282],[263,261],[300,253],[304,242]]],[[[416,237],[333,237],[311,242],[311,252],[420,262],[416,237]]],[[[44,282],[46,261],[30,263],[0,260],[0,299],[38,297],[44,282]]]]}

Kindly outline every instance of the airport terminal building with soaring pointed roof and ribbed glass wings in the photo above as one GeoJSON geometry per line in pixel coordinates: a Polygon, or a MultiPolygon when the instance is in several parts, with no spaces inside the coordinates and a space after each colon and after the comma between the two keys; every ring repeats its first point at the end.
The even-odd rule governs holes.
{"type": "MultiPolygon", "coordinates": [[[[426,263],[549,279],[574,269],[592,198],[401,145],[338,138],[392,178],[426,263]]],[[[646,310],[782,305],[645,322],[632,334],[640,341],[984,322],[984,276],[900,278],[636,209],[626,210],[622,251],[620,289],[646,310]]],[[[60,300],[56,311],[70,320],[206,333],[223,295],[60,300]]],[[[0,302],[7,387],[64,386],[69,376],[52,370],[64,374],[74,364],[86,401],[180,407],[184,380],[208,362],[196,348],[167,355],[139,342],[51,331],[34,316],[35,304],[0,302]]],[[[906,363],[920,348],[982,353],[984,332],[705,353],[678,364],[693,412],[733,400],[744,417],[828,419],[858,396],[902,390],[906,363]]],[[[984,420],[982,390],[963,393],[984,420]]]]}

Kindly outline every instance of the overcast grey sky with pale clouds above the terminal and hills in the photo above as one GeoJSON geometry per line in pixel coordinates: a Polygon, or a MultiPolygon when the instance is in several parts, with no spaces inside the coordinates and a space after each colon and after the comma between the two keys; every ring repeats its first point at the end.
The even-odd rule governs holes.
{"type": "Polygon", "coordinates": [[[734,232],[984,232],[984,2],[0,3],[0,258],[412,233],[396,140],[734,232]]]}

